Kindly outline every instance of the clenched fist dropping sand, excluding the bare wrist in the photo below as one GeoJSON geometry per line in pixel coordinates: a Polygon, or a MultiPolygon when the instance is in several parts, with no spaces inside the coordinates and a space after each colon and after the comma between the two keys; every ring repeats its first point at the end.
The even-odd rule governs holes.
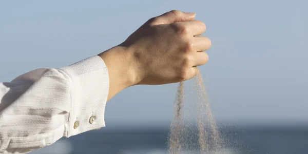
{"type": "Polygon", "coordinates": [[[159,85],[188,80],[196,75],[194,66],[203,65],[210,47],[207,37],[194,37],[205,24],[193,21],[195,13],[170,11],[151,18],[121,44],[136,61],[135,84],[159,85]]]}

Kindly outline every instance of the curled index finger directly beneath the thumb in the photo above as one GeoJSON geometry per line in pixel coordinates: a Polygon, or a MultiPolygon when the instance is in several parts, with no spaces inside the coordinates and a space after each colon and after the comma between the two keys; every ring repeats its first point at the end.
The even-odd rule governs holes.
{"type": "Polygon", "coordinates": [[[179,24],[183,24],[183,26],[187,29],[187,31],[193,36],[201,35],[206,30],[205,24],[201,21],[194,20],[194,21],[181,22],[179,24]]]}

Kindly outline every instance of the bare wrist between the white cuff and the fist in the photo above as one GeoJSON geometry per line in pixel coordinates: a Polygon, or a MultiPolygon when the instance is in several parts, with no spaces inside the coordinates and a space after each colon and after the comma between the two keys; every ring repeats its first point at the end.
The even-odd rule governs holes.
{"type": "Polygon", "coordinates": [[[115,46],[98,54],[105,62],[109,74],[107,100],[123,89],[137,84],[137,65],[129,50],[128,47],[115,46]]]}

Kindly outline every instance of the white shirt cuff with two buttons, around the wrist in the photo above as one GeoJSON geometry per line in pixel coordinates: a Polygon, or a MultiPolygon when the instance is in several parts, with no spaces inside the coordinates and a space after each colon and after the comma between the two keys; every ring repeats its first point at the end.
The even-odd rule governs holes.
{"type": "Polygon", "coordinates": [[[71,86],[71,110],[64,136],[105,127],[109,75],[101,57],[95,55],[60,70],[68,74],[71,86]]]}

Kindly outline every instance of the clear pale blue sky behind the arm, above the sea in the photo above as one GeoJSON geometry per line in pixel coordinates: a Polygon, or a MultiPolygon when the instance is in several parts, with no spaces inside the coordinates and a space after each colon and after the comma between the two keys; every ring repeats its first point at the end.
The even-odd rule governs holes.
{"type": "MultiPolygon", "coordinates": [[[[1,1],[0,82],[60,68],[122,43],[153,16],[195,12],[211,39],[199,67],[222,124],[308,124],[308,2],[1,1]]],[[[134,86],[107,102],[106,126],[168,125],[177,84],[134,86]]]]}

